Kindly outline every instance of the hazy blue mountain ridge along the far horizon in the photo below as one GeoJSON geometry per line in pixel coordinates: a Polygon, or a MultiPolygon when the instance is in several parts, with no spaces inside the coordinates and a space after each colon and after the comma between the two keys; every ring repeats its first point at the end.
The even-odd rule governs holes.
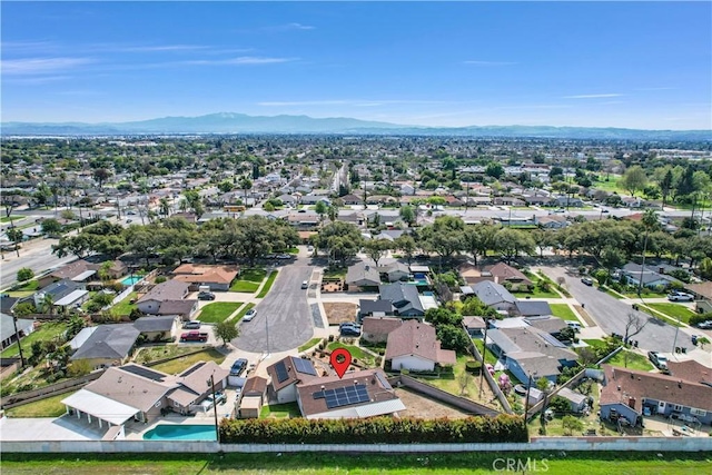
{"type": "Polygon", "coordinates": [[[233,112],[210,113],[199,117],[162,117],[130,122],[2,122],[0,127],[2,136],[348,133],[712,141],[712,130],[639,130],[552,126],[424,127],[359,120],[348,117],[317,119],[308,116],[248,116],[233,112]]]}

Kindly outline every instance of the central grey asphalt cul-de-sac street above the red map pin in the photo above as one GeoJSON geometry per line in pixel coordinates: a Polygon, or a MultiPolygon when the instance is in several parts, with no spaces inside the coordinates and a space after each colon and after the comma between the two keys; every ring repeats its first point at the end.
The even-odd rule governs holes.
{"type": "Polygon", "coordinates": [[[231,343],[251,353],[275,353],[297,348],[314,335],[314,323],[307,306],[307,290],[314,267],[303,253],[296,259],[277,266],[279,275],[271,290],[255,307],[251,321],[240,321],[240,336],[231,343]]]}

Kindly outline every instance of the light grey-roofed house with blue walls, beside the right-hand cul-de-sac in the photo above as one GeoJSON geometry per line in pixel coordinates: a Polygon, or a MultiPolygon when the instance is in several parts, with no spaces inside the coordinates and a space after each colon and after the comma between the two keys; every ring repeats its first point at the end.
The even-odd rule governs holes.
{"type": "Polygon", "coordinates": [[[510,372],[522,383],[542,377],[552,383],[564,366],[573,366],[578,355],[535,327],[494,328],[487,331],[487,347],[505,360],[510,372]]]}

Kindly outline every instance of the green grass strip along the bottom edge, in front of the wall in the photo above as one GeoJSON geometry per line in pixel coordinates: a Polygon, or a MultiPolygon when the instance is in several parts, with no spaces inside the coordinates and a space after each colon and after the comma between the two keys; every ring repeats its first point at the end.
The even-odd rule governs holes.
{"type": "MultiPolygon", "coordinates": [[[[503,472],[503,458],[530,463],[547,475],[699,475],[709,473],[710,453],[472,452],[462,454],[2,454],[3,475],[16,474],[294,474],[294,475],[485,475],[503,472]],[[545,469],[544,469],[545,468],[545,469]]],[[[515,462],[516,463],[516,462],[515,462]]]]}

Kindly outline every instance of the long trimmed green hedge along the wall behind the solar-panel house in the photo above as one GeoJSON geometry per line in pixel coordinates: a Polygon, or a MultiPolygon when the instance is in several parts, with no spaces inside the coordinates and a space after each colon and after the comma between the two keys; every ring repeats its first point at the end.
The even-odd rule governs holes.
{"type": "Polygon", "coordinates": [[[224,444],[412,444],[527,442],[520,416],[462,419],[222,419],[224,444]]]}

